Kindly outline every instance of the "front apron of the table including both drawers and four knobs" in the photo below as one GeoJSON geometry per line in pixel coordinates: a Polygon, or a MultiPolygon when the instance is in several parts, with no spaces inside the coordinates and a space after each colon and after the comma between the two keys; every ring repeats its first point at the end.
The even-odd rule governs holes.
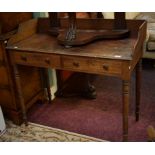
{"type": "MultiPolygon", "coordinates": [[[[125,61],[59,54],[12,52],[15,64],[122,77],[125,61]]],[[[126,68],[128,69],[128,68],[126,68]]]]}

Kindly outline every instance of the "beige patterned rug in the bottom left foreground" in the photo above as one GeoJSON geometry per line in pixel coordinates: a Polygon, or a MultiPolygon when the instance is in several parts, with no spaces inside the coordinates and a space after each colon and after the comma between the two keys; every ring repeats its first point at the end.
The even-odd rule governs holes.
{"type": "Polygon", "coordinates": [[[67,132],[43,125],[29,123],[17,126],[6,121],[6,131],[0,135],[0,142],[100,142],[101,139],[67,132]]]}

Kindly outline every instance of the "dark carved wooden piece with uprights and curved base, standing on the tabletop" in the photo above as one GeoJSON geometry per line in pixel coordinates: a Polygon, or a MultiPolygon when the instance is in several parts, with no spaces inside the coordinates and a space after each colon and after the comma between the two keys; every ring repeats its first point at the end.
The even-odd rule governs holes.
{"type": "MultiPolygon", "coordinates": [[[[68,13],[68,28],[61,29],[57,13],[50,13],[49,15],[52,23],[52,34],[57,34],[59,43],[65,45],[66,47],[84,45],[99,39],[120,39],[129,36],[129,30],[126,27],[124,12],[115,13],[115,22],[112,30],[80,30],[77,28],[76,12],[68,13]]],[[[101,13],[98,13],[98,17],[101,17],[101,13]]]]}

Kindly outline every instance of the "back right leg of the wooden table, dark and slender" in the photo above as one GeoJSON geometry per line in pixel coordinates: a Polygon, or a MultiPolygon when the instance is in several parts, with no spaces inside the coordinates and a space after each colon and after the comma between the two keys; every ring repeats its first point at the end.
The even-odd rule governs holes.
{"type": "Polygon", "coordinates": [[[139,120],[139,106],[140,106],[140,90],[141,90],[141,60],[136,65],[136,121],[139,120]]]}

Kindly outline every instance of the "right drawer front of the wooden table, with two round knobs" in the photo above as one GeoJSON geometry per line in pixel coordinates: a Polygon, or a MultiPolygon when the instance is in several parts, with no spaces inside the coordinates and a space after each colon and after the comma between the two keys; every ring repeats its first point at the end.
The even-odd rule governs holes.
{"type": "Polygon", "coordinates": [[[105,60],[95,58],[80,58],[64,56],[62,59],[63,68],[98,74],[121,74],[122,62],[117,60],[105,60]]]}

